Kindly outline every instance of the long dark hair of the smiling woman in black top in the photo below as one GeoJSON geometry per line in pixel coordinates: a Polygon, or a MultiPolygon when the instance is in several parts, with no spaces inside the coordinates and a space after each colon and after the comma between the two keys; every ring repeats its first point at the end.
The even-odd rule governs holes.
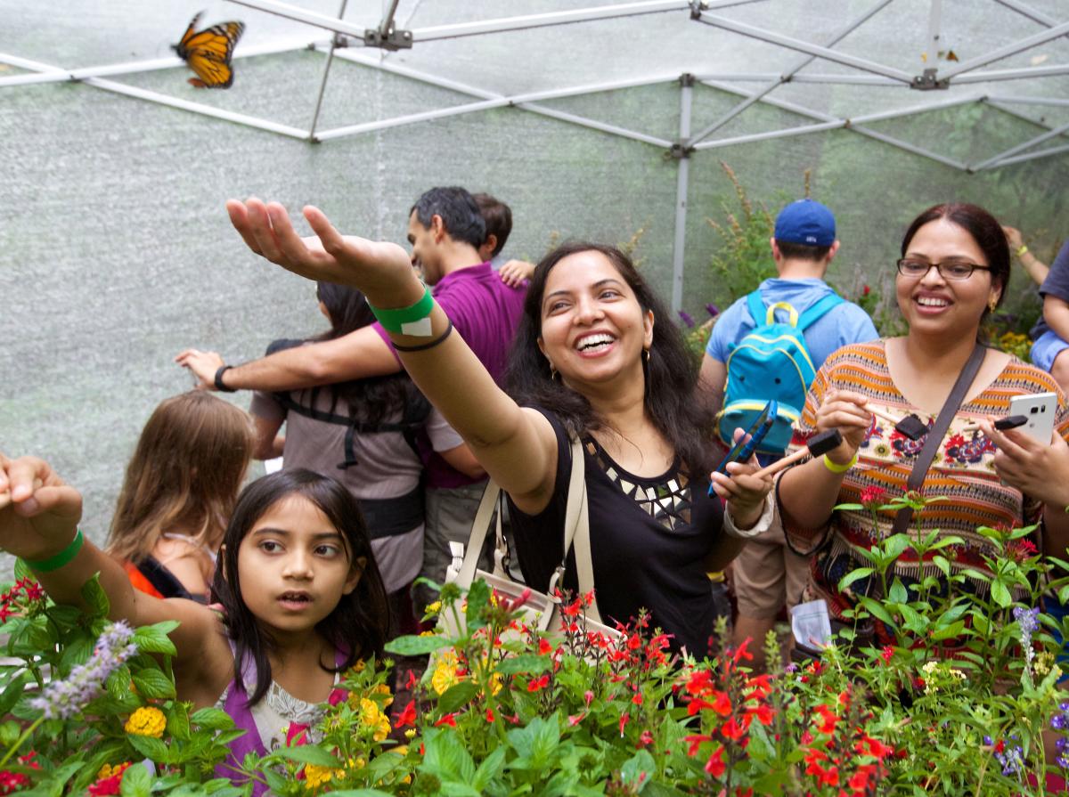
{"type": "Polygon", "coordinates": [[[521,404],[543,407],[571,425],[583,436],[605,426],[586,396],[551,377],[549,363],[539,349],[542,335],[542,297],[549,271],[564,257],[594,251],[605,255],[635,292],[642,312],[653,311],[653,343],[646,375],[646,409],[653,424],[668,439],[687,471],[694,475],[710,470],[713,413],[697,391],[698,370],[687,354],[683,338],[669,318],[668,309],[635,269],[631,260],[616,247],[586,241],[570,241],[549,252],[534,268],[524,315],[509,356],[506,381],[509,392],[521,404]]]}

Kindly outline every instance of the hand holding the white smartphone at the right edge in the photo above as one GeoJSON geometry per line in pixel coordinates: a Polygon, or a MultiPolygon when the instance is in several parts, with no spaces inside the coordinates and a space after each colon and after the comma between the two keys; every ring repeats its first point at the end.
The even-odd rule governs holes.
{"type": "Polygon", "coordinates": [[[1006,484],[1043,503],[1069,505],[1069,446],[1056,431],[1042,443],[1020,429],[1000,432],[989,420],[980,431],[996,447],[992,464],[1006,484]]]}

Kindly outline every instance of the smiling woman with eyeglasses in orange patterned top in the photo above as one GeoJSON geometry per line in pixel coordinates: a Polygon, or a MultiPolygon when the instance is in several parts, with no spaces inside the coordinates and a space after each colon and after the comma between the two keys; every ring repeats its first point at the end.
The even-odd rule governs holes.
{"type": "MultiPolygon", "coordinates": [[[[927,434],[911,439],[881,415],[895,419],[914,415],[931,429],[981,344],[985,319],[998,307],[1009,283],[1006,236],[998,222],[976,205],[943,204],[925,210],[907,230],[901,255],[895,290],[909,331],[901,338],[846,346],[827,358],[810,388],[794,443],[800,447],[830,428],[838,428],[843,441],[825,456],[785,471],[776,486],[788,542],[801,552],[816,552],[804,599],[824,598],[833,626],[853,608],[857,595],[882,597],[879,579],[862,578],[846,590],[839,582],[870,564],[857,551],[894,533],[897,515],[833,507],[886,503],[907,490],[927,434]]],[[[996,552],[993,543],[977,533],[978,526],[1042,520],[1043,533],[1032,541],[1034,545],[1065,557],[1069,544],[1065,396],[1050,374],[1006,353],[983,347],[975,361],[978,371],[924,476],[924,496],[946,500],[914,512],[908,527],[911,536],[917,529],[925,534],[939,530],[963,541],[938,553],[948,560],[950,574],[964,575],[962,585],[955,589],[966,590],[982,589],[967,571],[987,572],[983,554],[996,552]],[[1020,429],[993,428],[993,419],[1008,415],[1011,396],[1043,392],[1058,397],[1049,443],[1020,429]]],[[[1017,544],[1027,552],[1024,542],[1017,544]]],[[[910,548],[899,556],[894,575],[907,587],[934,576],[947,590],[950,580],[940,564],[931,554],[918,561],[910,548]]],[[[879,623],[873,632],[877,642],[892,641],[879,623]]]]}

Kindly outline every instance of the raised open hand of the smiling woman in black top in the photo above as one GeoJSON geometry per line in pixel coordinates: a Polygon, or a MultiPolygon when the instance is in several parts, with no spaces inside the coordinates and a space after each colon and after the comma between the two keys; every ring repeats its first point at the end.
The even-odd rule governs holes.
{"type": "Polygon", "coordinates": [[[312,238],[297,235],[285,208],[277,202],[230,200],[227,212],[249,249],[288,271],[356,287],[381,308],[407,307],[422,296],[404,249],[342,235],[317,207],[304,208],[305,220],[315,233],[312,238]]]}

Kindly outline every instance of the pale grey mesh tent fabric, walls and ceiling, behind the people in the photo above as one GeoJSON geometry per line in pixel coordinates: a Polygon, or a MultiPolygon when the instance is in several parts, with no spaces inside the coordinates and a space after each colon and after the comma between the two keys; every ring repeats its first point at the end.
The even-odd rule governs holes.
{"type": "MultiPolygon", "coordinates": [[[[296,5],[337,18],[340,2],[296,5]]],[[[721,160],[773,213],[802,194],[804,172],[811,171],[812,193],[836,210],[843,241],[832,278],[849,290],[862,282],[888,286],[904,225],[939,201],[989,207],[1023,228],[1040,256],[1069,237],[1066,35],[975,71],[1042,74],[970,83],[966,72],[960,84],[921,92],[827,58],[777,84],[811,53],[723,27],[746,26],[811,48],[870,15],[830,49],[920,75],[1060,30],[1069,22],[1064,0],[758,0],[702,12],[704,20],[681,7],[459,38],[420,42],[418,35],[599,5],[401,2],[397,28],[417,32],[415,46],[337,50],[317,131],[494,105],[487,96],[629,88],[539,99],[540,110],[491,107],[310,143],[94,81],[307,132],[330,31],[213,2],[203,21],[236,18],[248,30],[233,88],[205,92],[186,84],[189,73],[168,48],[200,4],[71,0],[49,7],[0,0],[0,450],[50,459],[83,490],[84,531],[103,542],[141,426],[156,404],[190,385],[171,362],[179,350],[216,349],[241,362],[260,356],[274,338],[322,329],[313,285],[248,252],[222,207],[229,197],[278,199],[295,215],[315,203],[346,232],[403,241],[408,207],[425,188],[486,190],[513,208],[507,249],[513,256],[538,259],[568,237],[624,243],[641,231],[641,268],[666,297],[676,288],[681,308],[699,319],[707,301],[722,298],[708,268],[721,241],[706,220],[724,220],[725,206],[738,207],[721,160]],[[308,43],[315,49],[300,48],[308,43]],[[959,60],[933,58],[933,49],[954,50],[959,60]],[[251,52],[262,54],[243,54],[251,52]],[[113,64],[137,69],[96,69],[96,78],[80,82],[29,82],[50,68],[94,72],[113,64]],[[141,68],[145,64],[156,68],[141,68]],[[697,149],[680,159],[670,147],[688,144],[680,135],[684,74],[697,76],[690,89],[692,136],[716,129],[690,142],[697,149]],[[732,115],[748,95],[772,84],[761,100],[732,115]],[[871,119],[921,105],[945,107],[871,119]],[[869,121],[845,126],[858,116],[869,121]],[[1037,137],[1047,138],[1011,152],[1037,137]],[[1044,150],[1054,154],[975,173],[959,168],[1044,150]],[[677,240],[684,162],[686,214],[677,240]],[[685,256],[678,282],[680,243],[685,256]]],[[[375,28],[385,11],[381,3],[351,2],[343,19],[375,28]]],[[[1023,275],[1014,278],[1013,293],[1019,302],[1035,301],[1023,275]]],[[[248,403],[243,394],[229,398],[248,403]]]]}

